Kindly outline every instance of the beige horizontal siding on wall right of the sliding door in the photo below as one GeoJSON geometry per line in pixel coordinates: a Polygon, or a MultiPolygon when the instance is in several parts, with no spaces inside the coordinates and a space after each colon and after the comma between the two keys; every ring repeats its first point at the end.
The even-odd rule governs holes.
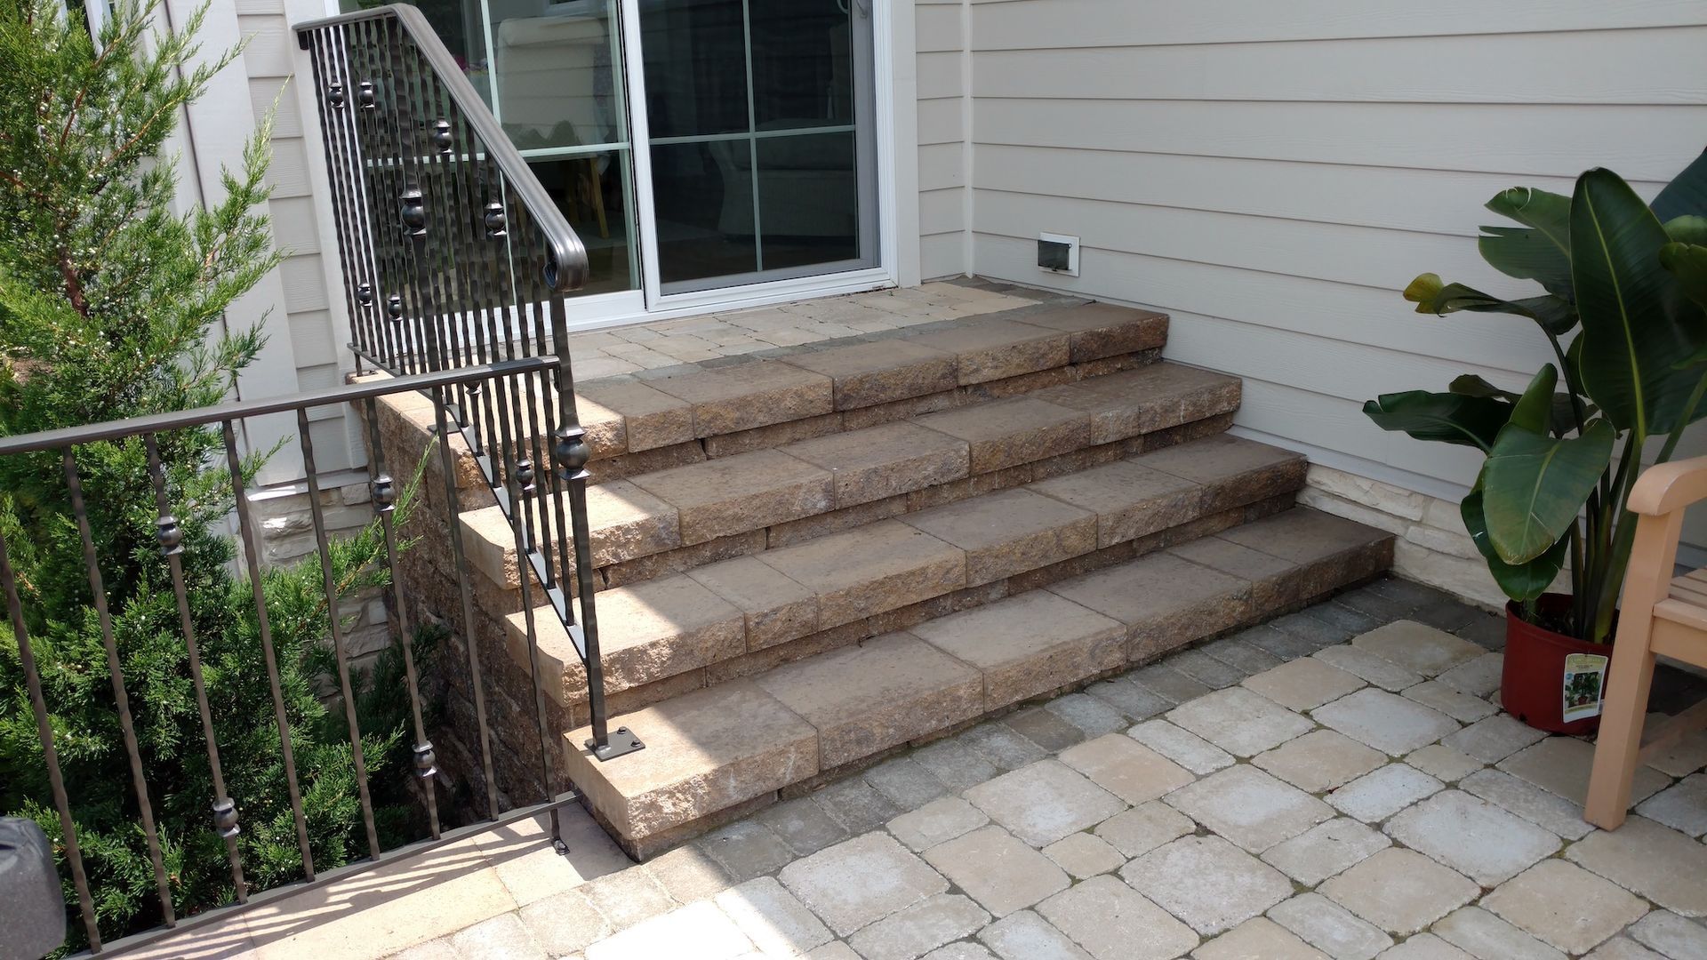
{"type": "MultiPolygon", "coordinates": [[[[1506,186],[1608,166],[1651,196],[1707,143],[1707,2],[973,0],[971,270],[1173,314],[1246,381],[1238,425],[1456,495],[1478,458],[1372,427],[1376,393],[1552,359],[1518,318],[1422,318],[1506,186]],[[1081,277],[1034,266],[1081,237],[1081,277]]],[[[923,184],[923,178],[922,178],[923,184]]]]}

